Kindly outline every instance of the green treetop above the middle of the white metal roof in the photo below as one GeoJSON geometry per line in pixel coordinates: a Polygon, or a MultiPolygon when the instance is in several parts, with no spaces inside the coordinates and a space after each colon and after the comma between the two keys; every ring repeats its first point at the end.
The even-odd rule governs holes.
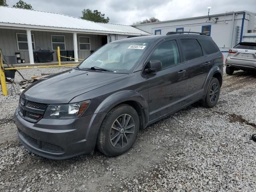
{"type": "Polygon", "coordinates": [[[84,9],[82,11],[83,16],[81,19],[89,20],[89,21],[94,21],[94,22],[100,22],[100,23],[108,23],[109,18],[105,18],[105,14],[101,14],[98,10],[92,10],[90,9],[84,9]]]}

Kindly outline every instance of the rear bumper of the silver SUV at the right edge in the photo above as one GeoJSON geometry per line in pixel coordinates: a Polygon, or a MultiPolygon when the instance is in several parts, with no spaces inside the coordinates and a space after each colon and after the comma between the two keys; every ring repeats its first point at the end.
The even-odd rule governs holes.
{"type": "Polygon", "coordinates": [[[244,70],[256,70],[256,61],[226,58],[226,67],[234,67],[244,70]]]}

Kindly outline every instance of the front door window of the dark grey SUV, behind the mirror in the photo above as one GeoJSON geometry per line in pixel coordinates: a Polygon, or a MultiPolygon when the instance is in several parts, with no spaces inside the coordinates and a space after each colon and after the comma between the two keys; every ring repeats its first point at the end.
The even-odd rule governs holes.
{"type": "Polygon", "coordinates": [[[150,60],[162,62],[162,69],[176,66],[180,63],[180,54],[175,40],[160,44],[150,56],[150,60]]]}

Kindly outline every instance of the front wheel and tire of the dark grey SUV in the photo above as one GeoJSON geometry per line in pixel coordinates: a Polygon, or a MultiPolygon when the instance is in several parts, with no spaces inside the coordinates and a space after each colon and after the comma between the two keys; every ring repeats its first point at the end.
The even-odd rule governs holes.
{"type": "Polygon", "coordinates": [[[98,149],[106,156],[123,154],[134,144],[139,127],[139,116],[132,106],[127,104],[116,106],[108,112],[100,126],[98,149]]]}

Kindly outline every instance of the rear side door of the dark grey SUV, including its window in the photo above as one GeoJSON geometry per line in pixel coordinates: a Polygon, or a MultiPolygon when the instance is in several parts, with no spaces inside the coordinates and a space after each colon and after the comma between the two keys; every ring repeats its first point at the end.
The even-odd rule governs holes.
{"type": "Polygon", "coordinates": [[[186,101],[192,102],[204,94],[204,82],[213,64],[207,56],[204,56],[202,47],[196,38],[184,37],[179,38],[179,41],[187,64],[188,87],[186,101]]]}

